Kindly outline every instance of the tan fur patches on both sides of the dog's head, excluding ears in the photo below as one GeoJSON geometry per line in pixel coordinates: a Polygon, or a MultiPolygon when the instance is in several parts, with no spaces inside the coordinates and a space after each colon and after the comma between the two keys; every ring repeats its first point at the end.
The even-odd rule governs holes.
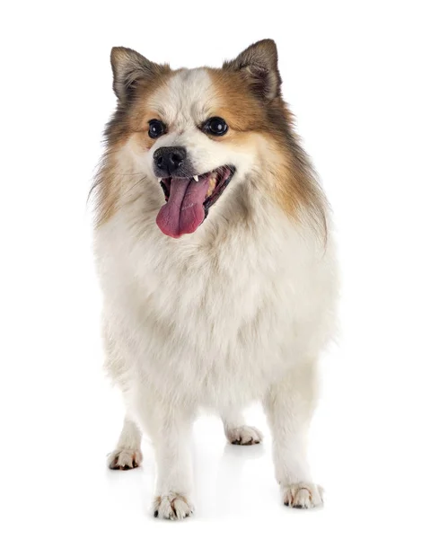
{"type": "MultiPolygon", "coordinates": [[[[101,171],[98,175],[98,217],[97,225],[106,222],[119,208],[119,199],[125,196],[127,189],[133,184],[133,178],[116,173],[114,157],[119,147],[132,136],[132,143],[139,151],[148,151],[154,145],[154,139],[148,137],[148,121],[161,119],[158,110],[149,106],[154,93],[168,83],[172,75],[178,71],[168,70],[154,75],[148,87],[140,88],[136,101],[117,140],[109,148],[101,171]]],[[[325,206],[326,200],[314,180],[312,169],[308,163],[300,163],[295,151],[289,147],[286,134],[275,131],[268,125],[268,110],[254,98],[248,89],[246,74],[231,72],[226,69],[207,68],[212,78],[215,102],[222,103],[215,107],[213,115],[226,119],[230,129],[224,137],[213,137],[224,145],[256,145],[261,137],[267,142],[263,149],[265,159],[263,167],[269,167],[269,179],[257,183],[257,189],[264,190],[268,197],[277,201],[286,215],[295,221],[303,221],[303,216],[311,216],[312,224],[324,236],[326,234],[325,206]],[[260,137],[256,137],[259,135],[260,137]]],[[[281,97],[274,98],[273,106],[277,108],[295,139],[293,115],[281,97]]],[[[135,147],[134,146],[134,147],[135,147]]],[[[264,179],[264,176],[260,176],[264,179]]]]}

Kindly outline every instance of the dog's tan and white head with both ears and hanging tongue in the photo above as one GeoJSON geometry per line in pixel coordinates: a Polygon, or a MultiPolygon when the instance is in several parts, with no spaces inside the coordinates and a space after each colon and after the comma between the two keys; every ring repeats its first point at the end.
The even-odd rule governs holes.
{"type": "Polygon", "coordinates": [[[195,232],[233,192],[224,193],[230,183],[247,185],[262,167],[263,189],[292,211],[300,189],[277,179],[293,163],[295,137],[274,41],[251,45],[220,69],[173,71],[121,47],[112,49],[111,66],[119,104],[108,140],[129,146],[145,181],[161,185],[156,223],[163,234],[195,232]]]}

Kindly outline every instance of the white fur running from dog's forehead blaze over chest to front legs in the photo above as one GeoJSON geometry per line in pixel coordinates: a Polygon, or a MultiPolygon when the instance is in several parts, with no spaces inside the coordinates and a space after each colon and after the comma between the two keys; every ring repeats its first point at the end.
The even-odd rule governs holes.
{"type": "MultiPolygon", "coordinates": [[[[128,418],[154,442],[160,517],[189,514],[190,427],[201,406],[219,411],[232,431],[242,427],[245,405],[263,402],[285,499],[295,504],[298,484],[318,491],[305,435],[316,361],[334,331],[330,231],[324,246],[311,227],[293,223],[254,187],[252,180],[266,173],[262,155],[224,149],[198,131],[215,107],[209,84],[201,70],[182,71],[155,94],[152,106],[162,108],[169,134],[147,154],[133,141],[120,150],[119,170],[134,174],[125,183],[130,193],[122,190],[122,208],[96,231],[106,364],[128,418]],[[163,192],[151,168],[154,150],[175,144],[187,146],[198,173],[226,163],[237,169],[204,224],[179,240],[155,224],[163,192]],[[177,497],[178,510],[171,502],[177,497]]],[[[296,505],[312,506],[307,492],[296,505]]]]}

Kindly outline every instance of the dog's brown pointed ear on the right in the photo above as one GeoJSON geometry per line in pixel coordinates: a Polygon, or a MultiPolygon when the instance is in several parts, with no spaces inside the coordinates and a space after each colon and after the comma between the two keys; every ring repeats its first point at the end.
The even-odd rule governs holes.
{"type": "Polygon", "coordinates": [[[281,77],[277,67],[277,45],[273,40],[261,40],[231,61],[223,69],[242,71],[248,75],[252,90],[264,100],[280,95],[281,77]]]}

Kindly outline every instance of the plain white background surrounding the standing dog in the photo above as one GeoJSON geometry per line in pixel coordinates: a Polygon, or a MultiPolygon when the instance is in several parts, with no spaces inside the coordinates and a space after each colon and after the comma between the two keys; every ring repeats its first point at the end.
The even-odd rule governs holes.
{"type": "Polygon", "coordinates": [[[422,43],[418,2],[2,4],[0,535],[421,534],[422,43]],[[85,201],[115,105],[110,48],[218,66],[277,41],[283,92],[335,212],[342,336],[311,437],[322,510],[281,506],[270,439],[195,430],[197,514],[148,513],[154,456],[110,472],[122,418],[101,371],[85,201]]]}

